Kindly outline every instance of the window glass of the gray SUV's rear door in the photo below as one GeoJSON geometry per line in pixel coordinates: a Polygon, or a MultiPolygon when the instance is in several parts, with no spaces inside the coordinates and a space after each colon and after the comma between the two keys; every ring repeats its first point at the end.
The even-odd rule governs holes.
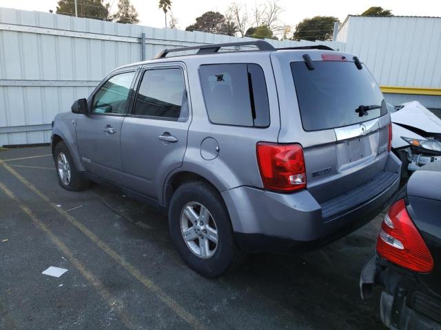
{"type": "Polygon", "coordinates": [[[133,114],[163,120],[187,120],[188,103],[182,69],[146,70],[133,114]]]}

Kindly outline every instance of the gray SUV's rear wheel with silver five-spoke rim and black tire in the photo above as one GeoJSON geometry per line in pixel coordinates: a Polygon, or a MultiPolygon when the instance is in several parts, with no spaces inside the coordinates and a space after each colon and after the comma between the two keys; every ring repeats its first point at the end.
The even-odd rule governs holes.
{"type": "Polygon", "coordinates": [[[192,181],[179,186],[170,201],[168,221],[176,250],[202,276],[221,276],[245,260],[234,243],[225,203],[209,184],[192,181]]]}

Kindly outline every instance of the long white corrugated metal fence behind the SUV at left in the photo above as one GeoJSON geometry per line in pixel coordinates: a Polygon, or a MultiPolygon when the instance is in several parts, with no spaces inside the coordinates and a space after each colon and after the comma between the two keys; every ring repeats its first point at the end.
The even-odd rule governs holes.
{"type": "MultiPolygon", "coordinates": [[[[87,97],[114,68],[141,61],[143,33],[147,59],[166,47],[245,40],[0,8],[0,146],[49,142],[54,115],[87,97]]],[[[276,47],[314,45],[269,42],[276,47]]]]}

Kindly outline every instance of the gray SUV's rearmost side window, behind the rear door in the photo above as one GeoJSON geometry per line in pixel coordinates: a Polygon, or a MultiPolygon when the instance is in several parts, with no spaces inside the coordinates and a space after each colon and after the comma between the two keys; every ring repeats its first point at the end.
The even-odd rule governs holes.
{"type": "Polygon", "coordinates": [[[201,65],[199,75],[211,122],[234,126],[269,126],[267,86],[259,65],[201,65]]]}

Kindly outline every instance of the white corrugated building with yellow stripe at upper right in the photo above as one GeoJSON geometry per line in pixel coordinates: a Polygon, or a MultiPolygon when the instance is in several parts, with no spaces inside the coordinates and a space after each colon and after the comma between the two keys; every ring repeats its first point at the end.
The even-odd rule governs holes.
{"type": "Polygon", "coordinates": [[[349,16],[337,41],[367,64],[389,102],[441,108],[441,18],[349,16]]]}

